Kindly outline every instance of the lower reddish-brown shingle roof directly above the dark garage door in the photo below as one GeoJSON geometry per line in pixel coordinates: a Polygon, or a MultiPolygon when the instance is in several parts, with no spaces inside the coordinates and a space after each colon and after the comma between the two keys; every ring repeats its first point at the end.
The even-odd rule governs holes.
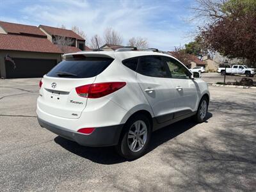
{"type": "Polygon", "coordinates": [[[0,50],[62,53],[47,38],[0,34],[0,50]]]}

